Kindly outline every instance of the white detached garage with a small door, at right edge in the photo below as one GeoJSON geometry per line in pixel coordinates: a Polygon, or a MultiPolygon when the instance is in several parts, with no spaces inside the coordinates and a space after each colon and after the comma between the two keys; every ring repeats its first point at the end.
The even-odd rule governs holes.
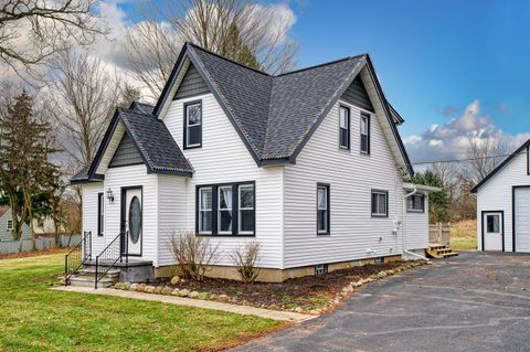
{"type": "Polygon", "coordinates": [[[471,192],[477,193],[480,250],[530,253],[530,140],[471,192]]]}

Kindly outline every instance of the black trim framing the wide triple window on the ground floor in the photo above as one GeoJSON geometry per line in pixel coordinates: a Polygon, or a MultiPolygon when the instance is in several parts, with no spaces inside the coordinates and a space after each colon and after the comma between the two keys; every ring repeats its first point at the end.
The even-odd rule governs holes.
{"type": "Polygon", "coordinates": [[[224,182],[224,183],[210,183],[210,184],[197,184],[195,185],[195,236],[212,236],[212,237],[255,237],[256,236],[256,182],[255,181],[242,181],[242,182],[224,182]],[[254,231],[239,233],[240,230],[240,185],[252,184],[254,186],[254,231]],[[232,186],[232,233],[231,234],[220,234],[218,232],[218,192],[220,186],[231,185],[232,186]],[[199,190],[202,188],[212,189],[212,232],[199,233],[199,190]]]}

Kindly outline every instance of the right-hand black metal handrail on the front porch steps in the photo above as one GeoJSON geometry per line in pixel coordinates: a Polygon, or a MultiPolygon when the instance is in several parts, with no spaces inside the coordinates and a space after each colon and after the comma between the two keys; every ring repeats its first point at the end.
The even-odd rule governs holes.
{"type": "Polygon", "coordinates": [[[129,263],[128,255],[129,232],[120,233],[99,253],[96,257],[96,271],[94,279],[94,288],[107,275],[107,273],[116,266],[116,263],[129,263]],[[121,241],[123,239],[123,241],[121,241]]]}

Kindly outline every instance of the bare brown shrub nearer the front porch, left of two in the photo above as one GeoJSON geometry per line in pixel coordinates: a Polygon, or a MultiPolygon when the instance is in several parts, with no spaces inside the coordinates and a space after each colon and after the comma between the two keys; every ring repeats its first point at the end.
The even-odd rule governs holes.
{"type": "Polygon", "coordinates": [[[182,276],[202,281],[209,266],[215,260],[218,246],[212,247],[210,238],[195,236],[191,231],[173,232],[169,239],[182,276]]]}

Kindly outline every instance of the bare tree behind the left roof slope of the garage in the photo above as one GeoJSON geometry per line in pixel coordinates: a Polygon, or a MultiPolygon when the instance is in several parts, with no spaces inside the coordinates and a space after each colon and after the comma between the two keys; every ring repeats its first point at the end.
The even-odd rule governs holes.
{"type": "Polygon", "coordinates": [[[476,184],[486,178],[510,153],[510,146],[492,138],[470,138],[466,152],[468,159],[465,179],[476,184]]]}

